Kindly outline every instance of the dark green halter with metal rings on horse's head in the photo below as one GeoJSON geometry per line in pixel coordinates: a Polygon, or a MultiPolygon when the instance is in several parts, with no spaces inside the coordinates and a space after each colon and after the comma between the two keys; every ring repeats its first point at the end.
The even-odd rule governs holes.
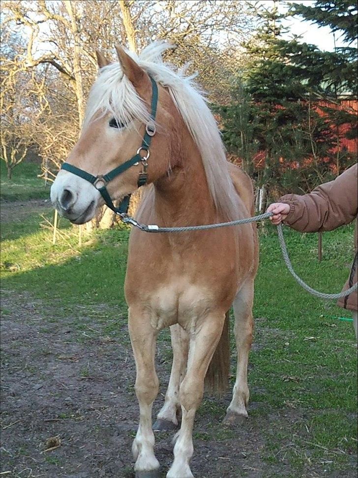
{"type": "Polygon", "coordinates": [[[93,176],[92,174],[89,174],[87,171],[84,171],[83,169],[80,169],[76,166],[73,166],[72,164],[68,164],[67,162],[64,162],[61,166],[60,169],[64,169],[65,171],[69,171],[72,174],[75,174],[76,176],[79,176],[80,178],[86,179],[86,181],[89,181],[93,186],[100,192],[101,196],[104,199],[104,202],[106,205],[112,209],[116,214],[125,214],[128,210],[129,206],[129,199],[130,199],[130,194],[125,196],[122,200],[122,202],[119,204],[119,207],[117,208],[111,199],[111,196],[109,195],[109,192],[107,191],[107,184],[112,181],[116,176],[119,174],[123,173],[127,169],[129,169],[131,166],[136,166],[140,162],[142,163],[142,171],[139,173],[138,177],[138,188],[141,186],[145,185],[147,183],[147,167],[148,167],[148,158],[149,158],[149,145],[151,141],[151,137],[154,136],[155,134],[155,115],[156,115],[156,109],[157,109],[157,103],[158,103],[158,87],[156,82],[153,80],[151,76],[149,76],[150,81],[151,81],[151,111],[150,111],[150,121],[146,125],[146,132],[143,137],[142,145],[140,148],[138,148],[137,153],[133,158],[128,159],[128,161],[123,162],[122,164],[119,164],[116,168],[112,169],[107,174],[104,175],[98,175],[98,176],[93,176]],[[141,156],[140,153],[141,151],[146,152],[145,156],[141,156]]]}

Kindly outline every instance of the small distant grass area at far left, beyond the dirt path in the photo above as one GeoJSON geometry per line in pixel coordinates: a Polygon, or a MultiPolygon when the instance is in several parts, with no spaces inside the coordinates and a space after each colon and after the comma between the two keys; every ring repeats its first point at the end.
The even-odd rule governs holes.
{"type": "Polygon", "coordinates": [[[12,178],[7,179],[5,162],[0,160],[0,199],[2,201],[24,201],[27,199],[46,199],[50,186],[46,186],[40,174],[40,164],[25,160],[12,171],[12,178]]]}

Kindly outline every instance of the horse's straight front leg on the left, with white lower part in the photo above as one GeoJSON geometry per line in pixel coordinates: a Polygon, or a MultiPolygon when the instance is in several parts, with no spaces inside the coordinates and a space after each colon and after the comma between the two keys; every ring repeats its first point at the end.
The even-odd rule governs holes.
{"type": "Polygon", "coordinates": [[[156,331],[150,324],[148,313],[130,307],[128,328],[137,369],[135,391],[139,402],[139,426],[133,441],[132,452],[136,460],[136,478],[159,477],[159,462],[154,456],[154,434],[151,428],[152,404],[158,393],[158,377],[154,356],[156,331]]]}

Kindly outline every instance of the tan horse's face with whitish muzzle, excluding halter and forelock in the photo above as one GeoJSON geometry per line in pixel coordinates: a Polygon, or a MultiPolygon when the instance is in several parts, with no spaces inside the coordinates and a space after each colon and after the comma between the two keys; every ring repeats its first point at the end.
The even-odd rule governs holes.
{"type": "MultiPolygon", "coordinates": [[[[123,78],[118,81],[126,81],[127,88],[129,85],[132,93],[134,87],[149,112],[152,93],[149,76],[123,50],[118,48],[117,52],[123,71],[123,78]]],[[[97,57],[99,66],[104,66],[103,57],[99,54],[97,57]]],[[[169,135],[165,131],[170,131],[175,122],[170,112],[176,110],[175,107],[173,110],[174,104],[169,94],[159,85],[158,87],[156,122],[165,124],[166,128],[157,131],[150,144],[148,183],[160,178],[167,171],[171,147],[169,135]]],[[[85,123],[81,137],[66,162],[93,176],[104,175],[136,154],[144,134],[144,123],[133,120],[123,125],[120,119],[109,113],[103,114],[103,111],[99,110],[91,121],[85,123]]],[[[139,163],[110,181],[107,190],[112,200],[121,199],[136,191],[141,171],[142,165],[139,163]]],[[[75,224],[90,221],[96,208],[104,203],[99,191],[89,181],[65,170],[58,173],[52,185],[51,201],[61,216],[75,224]]]]}

